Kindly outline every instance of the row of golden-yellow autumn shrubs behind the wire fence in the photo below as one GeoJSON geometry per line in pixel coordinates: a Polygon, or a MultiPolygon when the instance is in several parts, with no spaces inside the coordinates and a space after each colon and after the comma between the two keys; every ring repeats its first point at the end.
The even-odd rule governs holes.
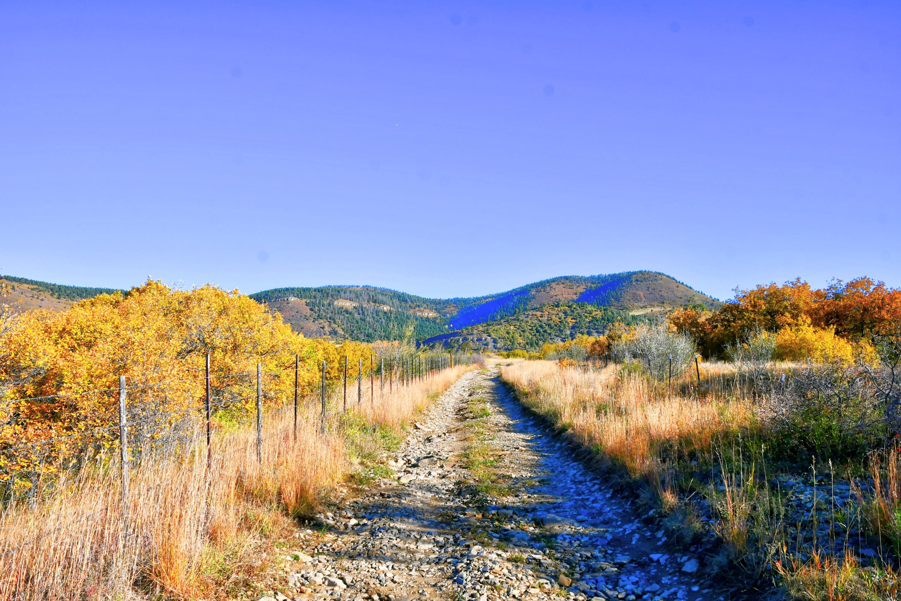
{"type": "Polygon", "coordinates": [[[359,359],[367,373],[370,369],[368,344],[306,339],[266,306],[213,286],[178,290],[149,280],[62,313],[28,312],[3,323],[0,482],[9,485],[5,496],[30,487],[35,475],[77,468],[86,452],[114,443],[120,376],[128,387],[128,419],[141,423],[134,429],[141,438],[135,442],[140,458],[165,452],[160,440],[172,441],[190,429],[191,412],[205,394],[207,354],[214,414],[223,425],[252,412],[258,364],[267,375],[267,395],[276,402],[293,394],[296,361],[302,396],[318,388],[323,360],[332,381],[345,356],[351,377],[359,359]]]}

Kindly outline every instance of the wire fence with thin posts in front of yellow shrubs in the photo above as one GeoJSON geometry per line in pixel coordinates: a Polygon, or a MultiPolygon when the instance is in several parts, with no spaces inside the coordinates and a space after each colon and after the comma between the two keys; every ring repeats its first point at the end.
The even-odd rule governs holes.
{"type": "MultiPolygon", "coordinates": [[[[180,396],[186,389],[181,386],[184,384],[181,380],[134,384],[122,376],[119,386],[114,388],[7,399],[6,408],[0,407],[5,413],[5,423],[0,426],[7,431],[7,436],[0,441],[0,516],[13,509],[37,507],[51,499],[62,482],[70,484],[78,478],[104,473],[108,478],[118,478],[121,484],[121,498],[116,502],[121,504],[123,530],[127,532],[130,476],[142,464],[187,459],[189,453],[197,452],[198,441],[202,444],[200,448],[205,446],[206,469],[216,469],[217,462],[239,451],[255,451],[256,459],[262,462],[263,443],[278,436],[287,441],[296,440],[298,413],[304,409],[308,414],[316,401],[320,404],[318,427],[325,433],[334,417],[341,417],[353,405],[363,403],[364,396],[374,404],[377,399],[390,397],[445,369],[478,361],[478,356],[430,353],[377,358],[370,355],[368,365],[362,357],[357,359],[356,365],[347,357],[337,365],[323,360],[316,370],[314,387],[309,382],[305,386],[298,356],[290,361],[293,365],[284,369],[263,370],[258,364],[256,371],[214,374],[207,355],[205,370],[200,375],[203,393],[199,398],[180,396]],[[311,394],[311,388],[315,394],[311,394]],[[364,391],[368,394],[364,395],[364,391]],[[84,405],[96,407],[95,420],[70,423],[50,431],[52,435],[40,440],[23,442],[29,435],[44,433],[42,428],[29,429],[27,419],[33,415],[23,412],[23,406],[52,404],[75,396],[84,405]],[[292,413],[293,420],[286,427],[264,436],[265,423],[279,423],[286,414],[292,413]],[[251,423],[256,429],[247,444],[214,452],[219,438],[241,431],[251,423]],[[19,436],[11,437],[9,432],[19,436]]],[[[161,481],[154,488],[166,484],[167,481],[161,481]]],[[[101,510],[81,517],[86,519],[97,511],[101,510]]],[[[50,528],[5,549],[0,552],[0,558],[50,537],[62,527],[50,528]]],[[[0,541],[0,549],[5,546],[0,541]]]]}

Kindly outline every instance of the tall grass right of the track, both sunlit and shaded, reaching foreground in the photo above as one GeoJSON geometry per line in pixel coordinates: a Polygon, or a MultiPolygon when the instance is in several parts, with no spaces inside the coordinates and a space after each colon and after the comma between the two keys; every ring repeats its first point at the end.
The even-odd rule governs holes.
{"type": "MultiPolygon", "coordinates": [[[[778,375],[796,367],[770,370],[778,375]]],[[[694,533],[713,534],[719,551],[708,556],[708,568],[740,568],[751,584],[775,575],[792,598],[888,599],[901,591],[890,561],[865,567],[854,553],[875,542],[880,556],[901,556],[901,454],[895,448],[855,460],[852,472],[869,477],[869,487],[851,481],[853,504],[818,509],[814,498],[811,519],[796,524],[796,514],[788,513],[794,500],[769,486],[774,474],[765,461],[769,449],[790,448],[791,441],[778,440],[785,433],[760,414],[766,399],[732,365],[693,365],[671,385],[629,365],[584,369],[551,361],[511,362],[501,367],[501,378],[524,405],[647,483],[645,500],[667,515],[670,539],[694,543],[694,533]],[[707,526],[698,524],[700,505],[709,512],[707,526]],[[851,532],[858,533],[854,541],[851,532]],[[859,540],[866,537],[869,542],[859,540]],[[843,551],[830,555],[830,549],[843,551]]],[[[780,465],[796,476],[806,459],[780,465]]],[[[807,467],[806,476],[816,476],[818,466],[807,467]]],[[[832,465],[829,473],[834,478],[832,465]]]]}

